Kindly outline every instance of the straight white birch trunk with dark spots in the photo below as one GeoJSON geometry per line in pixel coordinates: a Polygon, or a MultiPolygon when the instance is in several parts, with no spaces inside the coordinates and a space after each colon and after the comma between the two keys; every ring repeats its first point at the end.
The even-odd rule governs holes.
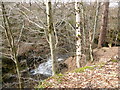
{"type": "Polygon", "coordinates": [[[75,12],[76,12],[76,65],[80,67],[81,60],[81,31],[80,31],[80,9],[78,0],[75,1],[75,12]]]}

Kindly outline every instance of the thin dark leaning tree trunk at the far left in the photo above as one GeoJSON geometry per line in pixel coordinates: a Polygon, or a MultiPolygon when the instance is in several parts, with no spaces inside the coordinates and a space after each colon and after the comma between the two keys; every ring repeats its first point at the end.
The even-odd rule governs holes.
{"type": "Polygon", "coordinates": [[[5,6],[4,6],[3,2],[2,2],[2,14],[3,14],[3,22],[4,22],[5,34],[6,34],[8,43],[10,45],[12,60],[15,62],[15,65],[16,65],[19,88],[21,89],[22,85],[21,85],[21,75],[20,75],[20,70],[19,70],[19,62],[18,62],[18,59],[17,59],[17,48],[15,46],[13,33],[11,31],[11,28],[10,28],[10,23],[9,23],[8,16],[7,16],[5,6]]]}

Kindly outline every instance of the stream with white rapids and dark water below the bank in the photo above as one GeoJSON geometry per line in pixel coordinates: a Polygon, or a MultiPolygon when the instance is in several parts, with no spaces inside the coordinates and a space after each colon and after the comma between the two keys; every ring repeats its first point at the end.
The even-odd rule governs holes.
{"type": "MultiPolygon", "coordinates": [[[[69,55],[60,55],[59,57],[57,56],[58,64],[59,65],[63,64],[63,62],[68,57],[69,57],[69,55]]],[[[22,81],[23,81],[22,84],[24,85],[24,87],[33,88],[34,87],[33,83],[38,84],[39,81],[44,80],[44,79],[52,76],[52,60],[50,57],[48,57],[48,59],[46,59],[45,61],[46,62],[40,63],[38,65],[38,67],[35,69],[32,69],[30,71],[25,69],[24,72],[22,72],[22,81]]],[[[14,62],[12,60],[4,58],[4,63],[6,63],[4,65],[10,65],[10,66],[2,68],[2,70],[4,71],[3,75],[5,76],[5,78],[3,78],[5,84],[2,87],[3,88],[17,87],[18,86],[17,75],[14,74],[14,72],[13,73],[10,72],[10,71],[13,71],[13,69],[15,68],[15,67],[12,68],[12,66],[15,66],[14,62]],[[8,74],[9,74],[9,76],[6,76],[8,74]],[[8,84],[6,84],[6,83],[8,83],[8,84]],[[14,83],[16,83],[16,84],[14,84],[14,83]]],[[[62,66],[60,66],[60,67],[62,67],[62,66]]]]}

